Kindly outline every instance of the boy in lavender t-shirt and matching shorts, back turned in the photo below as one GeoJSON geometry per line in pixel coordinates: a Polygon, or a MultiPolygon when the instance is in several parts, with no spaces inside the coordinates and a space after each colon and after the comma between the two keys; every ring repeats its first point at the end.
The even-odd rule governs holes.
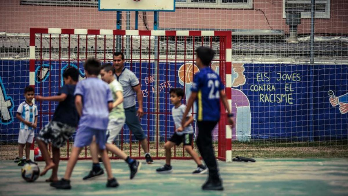
{"type": "Polygon", "coordinates": [[[112,110],[112,94],[108,84],[97,78],[101,69],[98,60],[89,58],[84,67],[87,79],[77,83],[74,93],[76,110],[81,118],[64,178],[50,184],[57,189],[71,188],[69,179],[72,170],[82,148],[88,146],[93,137],[95,137],[100,156],[108,173],[106,187],[118,187],[119,185],[112,176],[110,160],[105,150],[106,128],[109,123],[109,112],[112,110]]]}

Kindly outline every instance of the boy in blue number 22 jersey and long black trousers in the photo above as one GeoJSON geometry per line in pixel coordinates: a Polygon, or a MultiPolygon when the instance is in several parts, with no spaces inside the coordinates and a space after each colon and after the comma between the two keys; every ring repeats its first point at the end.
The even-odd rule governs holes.
{"type": "Polygon", "coordinates": [[[182,126],[186,121],[192,104],[197,104],[198,136],[196,139],[198,150],[209,169],[209,177],[203,184],[203,190],[223,190],[219,177],[217,163],[212,146],[212,130],[220,120],[220,99],[228,111],[229,123],[234,126],[231,110],[224,92],[224,86],[209,64],[214,58],[214,51],[208,47],[199,47],[196,50],[196,63],[199,72],[192,83],[192,93],[187,103],[187,108],[181,121],[182,126]]]}

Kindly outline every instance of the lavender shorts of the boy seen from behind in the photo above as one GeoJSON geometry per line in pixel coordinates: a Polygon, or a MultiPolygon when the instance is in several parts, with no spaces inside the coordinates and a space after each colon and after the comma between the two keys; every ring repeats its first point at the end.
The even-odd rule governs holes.
{"type": "Polygon", "coordinates": [[[106,130],[93,129],[86,126],[79,126],[77,128],[74,146],[78,148],[88,146],[90,143],[92,143],[93,136],[95,136],[99,149],[104,150],[106,143],[106,130]]]}

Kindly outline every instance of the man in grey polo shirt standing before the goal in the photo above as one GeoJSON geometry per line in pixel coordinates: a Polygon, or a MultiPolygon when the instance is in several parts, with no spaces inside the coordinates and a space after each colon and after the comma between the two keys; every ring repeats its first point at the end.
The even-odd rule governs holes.
{"type": "Polygon", "coordinates": [[[115,52],[112,56],[115,76],[123,87],[123,107],[125,108],[126,124],[134,134],[136,140],[139,140],[145,152],[145,159],[148,164],[153,163],[149,153],[148,141],[140,125],[139,118],[144,115],[143,94],[141,92],[139,79],[135,74],[124,67],[125,56],[122,52],[115,52]],[[135,94],[138,100],[139,108],[135,109],[135,94]]]}

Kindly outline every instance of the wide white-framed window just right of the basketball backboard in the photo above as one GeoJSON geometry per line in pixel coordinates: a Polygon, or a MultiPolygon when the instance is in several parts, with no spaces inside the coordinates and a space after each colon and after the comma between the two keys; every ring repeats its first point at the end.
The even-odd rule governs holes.
{"type": "Polygon", "coordinates": [[[183,8],[253,8],[253,0],[176,0],[176,7],[183,8]]]}

